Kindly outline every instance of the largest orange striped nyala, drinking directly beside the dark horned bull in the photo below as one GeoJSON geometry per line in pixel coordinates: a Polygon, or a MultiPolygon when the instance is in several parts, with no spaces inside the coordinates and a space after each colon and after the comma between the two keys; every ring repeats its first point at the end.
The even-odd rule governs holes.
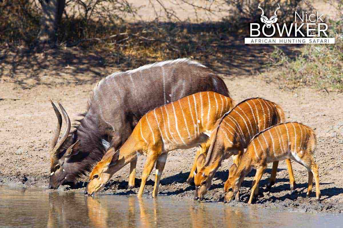
{"type": "MultiPolygon", "coordinates": [[[[146,179],[156,162],[155,197],[168,152],[201,143],[209,145],[206,141],[215,129],[216,121],[232,107],[233,101],[229,97],[215,92],[199,92],[149,111],[122,147],[117,151],[109,149],[94,167],[86,192],[91,195],[102,189],[114,173],[134,161],[140,153],[147,156],[147,160],[138,197],[142,197],[146,179]]],[[[134,173],[135,170],[131,170],[130,176],[134,173]]]]}

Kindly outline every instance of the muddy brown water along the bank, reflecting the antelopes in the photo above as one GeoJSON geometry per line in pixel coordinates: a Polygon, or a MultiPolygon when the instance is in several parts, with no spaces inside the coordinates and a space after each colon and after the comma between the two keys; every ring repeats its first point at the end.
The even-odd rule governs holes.
{"type": "Polygon", "coordinates": [[[342,227],[343,216],[0,186],[0,227],[342,227]]]}

